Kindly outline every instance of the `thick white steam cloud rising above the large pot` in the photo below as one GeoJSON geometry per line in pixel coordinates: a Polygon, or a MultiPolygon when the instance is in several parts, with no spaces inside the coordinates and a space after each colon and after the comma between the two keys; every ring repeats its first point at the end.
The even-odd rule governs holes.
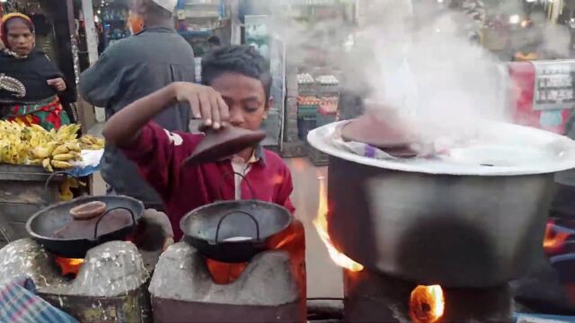
{"type": "MultiPolygon", "coordinates": [[[[262,0],[271,13],[281,13],[280,6],[287,3],[262,0]]],[[[523,9],[518,0],[507,0],[498,10],[509,14],[523,9]]],[[[539,18],[533,19],[537,32],[516,37],[513,47],[543,39],[538,51],[567,57],[567,29],[547,26],[539,18]]],[[[463,13],[439,10],[437,0],[376,0],[367,7],[361,27],[345,29],[345,19],[333,17],[312,27],[276,14],[270,30],[286,40],[289,64],[335,66],[345,75],[346,88],[364,91],[366,98],[388,108],[458,128],[476,125],[479,118],[509,120],[506,67],[470,41],[462,28],[469,24],[463,13]],[[340,42],[323,41],[318,37],[322,33],[340,42]],[[326,54],[309,55],[314,53],[310,48],[326,54]]]]}

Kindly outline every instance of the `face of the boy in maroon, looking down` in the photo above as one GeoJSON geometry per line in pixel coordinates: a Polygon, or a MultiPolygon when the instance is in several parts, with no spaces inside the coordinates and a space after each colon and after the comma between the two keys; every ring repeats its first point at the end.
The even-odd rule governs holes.
{"type": "Polygon", "coordinates": [[[271,106],[271,99],[266,100],[260,80],[239,73],[224,73],[215,78],[210,86],[226,101],[232,126],[260,129],[271,106]]]}

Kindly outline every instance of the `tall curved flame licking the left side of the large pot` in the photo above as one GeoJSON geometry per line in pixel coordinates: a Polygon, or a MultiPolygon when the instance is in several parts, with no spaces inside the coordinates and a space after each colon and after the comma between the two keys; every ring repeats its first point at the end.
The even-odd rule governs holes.
{"type": "Polygon", "coordinates": [[[338,249],[336,249],[333,244],[332,240],[330,239],[330,235],[328,234],[328,223],[327,223],[327,194],[325,192],[325,181],[323,178],[320,178],[320,204],[317,208],[317,217],[314,220],[315,230],[319,234],[320,238],[322,238],[325,247],[330,253],[330,257],[332,258],[333,262],[335,262],[338,266],[348,269],[351,272],[360,272],[363,270],[363,266],[358,264],[357,262],[351,260],[346,255],[342,254],[338,249]]]}

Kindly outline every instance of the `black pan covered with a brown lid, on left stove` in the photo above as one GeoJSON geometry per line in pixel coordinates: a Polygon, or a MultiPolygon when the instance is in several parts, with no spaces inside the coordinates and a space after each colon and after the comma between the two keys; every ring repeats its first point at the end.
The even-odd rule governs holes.
{"type": "MultiPolygon", "coordinates": [[[[47,180],[57,175],[53,174],[47,180]]],[[[71,176],[72,177],[72,176],[71,176]]],[[[72,201],[49,205],[31,216],[26,223],[26,230],[31,238],[36,240],[45,249],[64,258],[84,258],[86,252],[93,247],[112,240],[125,240],[136,228],[138,220],[144,213],[144,205],[135,198],[128,196],[84,196],[75,198],[72,201]],[[90,228],[84,228],[85,234],[71,239],[55,238],[55,232],[65,227],[73,221],[70,210],[76,206],[90,202],[100,201],[106,204],[106,211],[95,222],[85,221],[90,228]],[[116,211],[125,210],[130,214],[118,216],[116,211]],[[112,216],[112,218],[110,218],[112,216]],[[106,219],[106,228],[100,228],[102,220],[106,219]],[[100,231],[99,231],[100,230],[100,231]]]]}

